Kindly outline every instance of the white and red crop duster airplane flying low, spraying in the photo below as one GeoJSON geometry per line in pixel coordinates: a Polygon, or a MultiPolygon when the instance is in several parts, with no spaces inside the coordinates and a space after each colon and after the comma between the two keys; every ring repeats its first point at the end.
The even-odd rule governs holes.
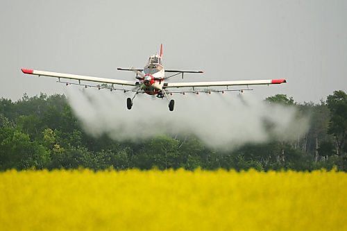
{"type": "MultiPolygon", "coordinates": [[[[37,71],[33,69],[22,69],[24,74],[31,74],[36,76],[48,76],[48,77],[56,77],[58,78],[59,83],[65,83],[66,85],[83,85],[85,87],[98,87],[108,88],[111,91],[117,90],[119,88],[115,88],[115,85],[124,85],[124,86],[133,86],[133,89],[120,89],[124,90],[124,92],[135,92],[133,98],[126,99],[126,105],[128,110],[130,110],[133,106],[133,101],[135,96],[139,93],[146,93],[149,95],[156,95],[158,98],[166,98],[169,100],[168,94],[171,96],[172,94],[185,94],[187,92],[192,92],[195,94],[199,94],[199,92],[206,92],[211,94],[211,92],[227,92],[227,91],[235,91],[235,89],[228,89],[230,86],[247,86],[248,85],[270,85],[270,84],[280,84],[287,83],[285,79],[273,79],[273,80],[237,80],[237,81],[215,81],[215,82],[190,82],[190,83],[164,83],[165,80],[171,78],[173,76],[177,76],[178,74],[183,75],[185,73],[203,73],[203,71],[182,71],[182,70],[165,70],[162,66],[162,44],[160,45],[160,55],[155,54],[151,55],[149,61],[143,69],[135,69],[135,68],[117,68],[121,71],[134,71],[136,73],[136,81],[128,81],[128,80],[118,80],[112,78],[98,78],[92,76],[78,76],[75,74],[63,74],[51,71],[37,71]],[[166,73],[171,73],[171,76],[166,76],[166,73]],[[61,81],[61,79],[71,79],[78,80],[78,83],[69,83],[65,81],[61,81]],[[96,82],[103,83],[103,85],[87,85],[81,83],[81,81],[86,82],[96,82]],[[110,86],[109,86],[109,85],[110,86]],[[112,86],[111,86],[112,85],[112,86]],[[180,87],[189,87],[192,89],[181,91],[181,92],[173,92],[170,89],[180,88],[180,87]],[[204,90],[196,90],[196,87],[206,87],[204,90]],[[226,89],[208,89],[208,87],[226,87],[226,89]]],[[[244,90],[250,89],[237,89],[236,91],[243,92],[244,90]]],[[[169,110],[174,110],[175,101],[171,99],[169,101],[169,110]]]]}

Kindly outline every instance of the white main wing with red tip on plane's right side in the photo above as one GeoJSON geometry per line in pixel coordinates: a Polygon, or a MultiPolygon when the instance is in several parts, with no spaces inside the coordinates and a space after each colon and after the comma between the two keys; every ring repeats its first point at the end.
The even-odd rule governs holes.
{"type": "Polygon", "coordinates": [[[169,87],[221,87],[221,86],[248,86],[248,85],[270,85],[287,83],[285,79],[267,80],[238,80],[238,81],[216,81],[216,82],[188,82],[188,83],[164,83],[163,88],[169,87]]]}

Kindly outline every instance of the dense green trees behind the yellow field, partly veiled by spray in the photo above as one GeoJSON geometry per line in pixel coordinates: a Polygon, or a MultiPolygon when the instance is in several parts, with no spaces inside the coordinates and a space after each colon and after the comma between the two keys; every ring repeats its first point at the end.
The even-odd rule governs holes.
{"type": "Polygon", "coordinates": [[[233,151],[212,150],[196,137],[162,135],[144,142],[115,142],[87,135],[64,95],[24,94],[0,99],[0,169],[331,169],[346,171],[347,95],[327,101],[295,103],[286,95],[269,103],[294,105],[310,116],[310,130],[295,142],[274,140],[233,151]]]}

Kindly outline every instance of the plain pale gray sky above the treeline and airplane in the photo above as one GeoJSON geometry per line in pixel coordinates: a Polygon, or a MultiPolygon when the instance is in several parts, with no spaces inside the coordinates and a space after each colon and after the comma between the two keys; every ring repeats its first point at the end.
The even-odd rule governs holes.
{"type": "MultiPolygon", "coordinates": [[[[253,87],[319,102],[347,91],[347,1],[0,1],[0,97],[63,93],[21,67],[133,80],[164,45],[166,69],[193,80],[286,78],[253,87]]],[[[175,78],[171,81],[180,81],[175,78]]]]}

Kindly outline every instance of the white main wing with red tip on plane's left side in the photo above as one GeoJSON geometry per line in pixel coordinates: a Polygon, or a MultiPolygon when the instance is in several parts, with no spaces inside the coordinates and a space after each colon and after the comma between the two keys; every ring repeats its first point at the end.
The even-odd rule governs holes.
{"type": "Polygon", "coordinates": [[[92,76],[78,76],[74,74],[64,74],[64,73],[57,73],[57,72],[51,72],[51,71],[37,71],[37,70],[31,70],[31,69],[22,69],[22,72],[24,74],[31,74],[35,76],[47,76],[47,77],[55,77],[60,80],[60,78],[68,78],[68,79],[74,79],[81,82],[81,80],[88,81],[88,82],[97,82],[97,83],[110,83],[110,84],[117,84],[117,85],[127,85],[127,86],[136,86],[137,82],[135,81],[127,81],[127,80],[119,80],[119,79],[112,79],[112,78],[99,78],[99,77],[92,77],[92,76]]]}

